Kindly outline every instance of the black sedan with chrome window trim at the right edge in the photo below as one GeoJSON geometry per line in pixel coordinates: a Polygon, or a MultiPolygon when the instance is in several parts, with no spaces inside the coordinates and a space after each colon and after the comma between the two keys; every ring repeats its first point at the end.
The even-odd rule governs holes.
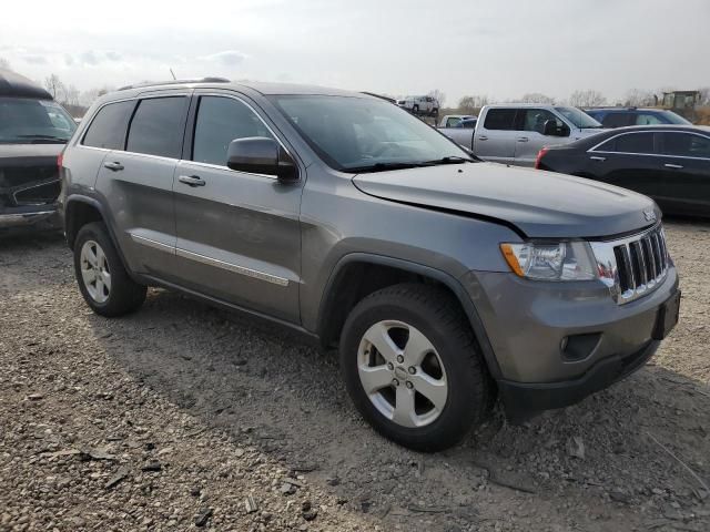
{"type": "Polygon", "coordinates": [[[665,213],[710,216],[710,127],[619,127],[545,147],[535,167],[651,196],[665,213]]]}

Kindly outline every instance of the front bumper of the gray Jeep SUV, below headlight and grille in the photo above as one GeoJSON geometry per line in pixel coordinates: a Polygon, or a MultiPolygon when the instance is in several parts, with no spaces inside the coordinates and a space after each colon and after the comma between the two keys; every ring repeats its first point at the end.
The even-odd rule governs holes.
{"type": "Polygon", "coordinates": [[[487,272],[462,280],[488,335],[498,364],[491,374],[510,418],[572,405],[643,366],[660,344],[659,309],[678,291],[672,265],[652,293],[625,305],[600,282],[487,272]],[[571,358],[570,338],[581,339],[571,358]]]}

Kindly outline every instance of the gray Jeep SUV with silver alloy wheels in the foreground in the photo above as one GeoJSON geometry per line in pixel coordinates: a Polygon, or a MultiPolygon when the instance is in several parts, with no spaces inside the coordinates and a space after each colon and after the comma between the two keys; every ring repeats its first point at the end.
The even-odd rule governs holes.
{"type": "Polygon", "coordinates": [[[146,286],[339,346],[386,437],[433,451],[574,403],[678,319],[660,212],[639,194],[471,158],[362,93],[219,79],[98,101],[61,165],[79,288],[102,316],[146,286]]]}

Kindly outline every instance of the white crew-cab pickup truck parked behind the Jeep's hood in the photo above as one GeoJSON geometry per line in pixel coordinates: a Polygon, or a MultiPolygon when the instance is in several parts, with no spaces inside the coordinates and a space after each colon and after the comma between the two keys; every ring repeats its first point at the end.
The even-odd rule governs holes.
{"type": "Polygon", "coordinates": [[[542,147],[594,135],[601,127],[577,108],[513,103],[486,105],[474,129],[439,131],[485,161],[534,166],[542,147]]]}

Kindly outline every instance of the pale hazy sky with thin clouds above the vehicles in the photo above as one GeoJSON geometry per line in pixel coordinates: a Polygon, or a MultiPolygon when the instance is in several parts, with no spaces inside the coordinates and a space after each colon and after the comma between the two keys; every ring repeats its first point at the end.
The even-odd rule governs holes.
{"type": "Polygon", "coordinates": [[[710,0],[4,2],[0,58],[85,91],[221,75],[390,95],[710,85],[710,0]],[[110,10],[109,6],[116,6],[110,10]]]}

